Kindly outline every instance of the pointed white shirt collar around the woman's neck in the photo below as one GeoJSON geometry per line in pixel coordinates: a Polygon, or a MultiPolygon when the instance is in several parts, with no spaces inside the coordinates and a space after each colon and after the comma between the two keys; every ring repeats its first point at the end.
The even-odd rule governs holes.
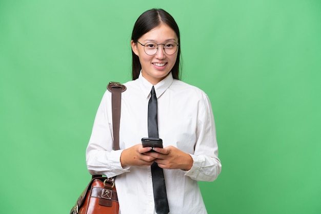
{"type": "MultiPolygon", "coordinates": [[[[143,77],[142,71],[138,76],[138,81],[145,97],[147,98],[148,96],[150,96],[150,91],[152,90],[153,84],[143,77]]],[[[156,97],[157,98],[160,97],[170,87],[172,82],[173,82],[173,75],[172,73],[169,73],[167,77],[165,77],[165,79],[155,84],[154,89],[155,89],[156,97]]]]}

